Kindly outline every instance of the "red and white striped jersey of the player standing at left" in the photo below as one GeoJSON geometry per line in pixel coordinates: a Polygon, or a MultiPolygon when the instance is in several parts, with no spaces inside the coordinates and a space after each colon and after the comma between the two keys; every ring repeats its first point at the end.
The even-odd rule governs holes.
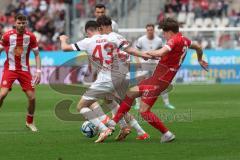
{"type": "Polygon", "coordinates": [[[18,34],[13,29],[3,34],[0,48],[4,48],[7,55],[4,70],[30,71],[30,51],[38,50],[38,43],[32,32],[25,31],[23,34],[18,34]]]}

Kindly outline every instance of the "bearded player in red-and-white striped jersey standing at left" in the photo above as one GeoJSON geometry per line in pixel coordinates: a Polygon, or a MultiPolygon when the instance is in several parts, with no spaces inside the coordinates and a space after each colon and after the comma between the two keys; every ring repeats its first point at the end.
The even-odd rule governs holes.
{"type": "Polygon", "coordinates": [[[3,34],[0,42],[0,53],[5,50],[7,59],[4,63],[4,70],[1,81],[0,107],[4,98],[12,88],[15,80],[18,80],[22,90],[28,98],[28,113],[26,126],[33,132],[37,131],[33,123],[35,111],[34,86],[41,80],[41,59],[39,56],[38,43],[33,33],[27,31],[27,17],[17,14],[15,17],[15,29],[3,34]],[[33,51],[36,60],[36,73],[32,78],[29,66],[30,51],[33,51]]]}

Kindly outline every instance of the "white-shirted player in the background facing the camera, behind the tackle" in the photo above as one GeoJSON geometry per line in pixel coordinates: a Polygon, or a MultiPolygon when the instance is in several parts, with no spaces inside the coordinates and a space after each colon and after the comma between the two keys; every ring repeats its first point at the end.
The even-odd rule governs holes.
{"type": "MultiPolygon", "coordinates": [[[[157,35],[155,35],[154,24],[146,25],[146,34],[138,38],[136,47],[142,51],[157,50],[162,47],[162,39],[157,35]]],[[[149,59],[145,61],[144,59],[139,58],[139,62],[141,63],[141,69],[143,71],[149,71],[148,76],[151,76],[159,60],[149,59]]],[[[164,102],[164,106],[166,108],[175,109],[175,107],[169,103],[167,92],[165,94],[162,94],[161,96],[164,102]]],[[[134,108],[139,109],[139,106],[140,106],[140,102],[139,102],[139,98],[137,98],[136,105],[134,106],[134,108]]]]}

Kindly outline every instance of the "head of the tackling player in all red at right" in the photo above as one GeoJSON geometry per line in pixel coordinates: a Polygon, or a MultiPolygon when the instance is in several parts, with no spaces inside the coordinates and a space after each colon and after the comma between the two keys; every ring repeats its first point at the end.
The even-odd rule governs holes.
{"type": "Polygon", "coordinates": [[[160,22],[159,28],[163,30],[163,37],[168,40],[179,32],[179,23],[173,18],[166,18],[160,22]]]}

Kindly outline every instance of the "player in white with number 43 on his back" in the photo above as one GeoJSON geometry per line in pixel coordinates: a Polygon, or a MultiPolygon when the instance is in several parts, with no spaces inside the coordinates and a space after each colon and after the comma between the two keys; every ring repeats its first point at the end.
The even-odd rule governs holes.
{"type": "MultiPolygon", "coordinates": [[[[65,35],[60,36],[61,41],[61,48],[64,51],[87,51],[89,56],[93,59],[94,62],[99,62],[102,66],[98,76],[97,80],[91,85],[89,90],[82,96],[81,100],[79,101],[79,104],[77,106],[78,112],[82,114],[86,119],[90,120],[95,126],[97,126],[100,130],[100,137],[101,135],[109,136],[112,133],[112,130],[110,128],[107,128],[98,118],[98,115],[96,115],[89,107],[97,101],[99,98],[108,98],[109,96],[112,96],[112,93],[117,90],[117,93],[120,97],[123,97],[125,95],[126,89],[121,88],[122,85],[125,85],[125,79],[121,75],[121,72],[118,72],[117,74],[112,73],[112,64],[115,56],[113,52],[115,49],[115,46],[119,49],[123,49],[127,51],[128,53],[132,53],[136,56],[146,57],[150,58],[151,56],[148,56],[146,54],[141,53],[140,51],[129,47],[129,44],[127,41],[122,38],[120,35],[119,37],[109,35],[100,35],[98,30],[98,25],[95,21],[89,21],[87,22],[85,26],[85,31],[88,34],[88,37],[85,38],[77,43],[74,44],[68,44],[67,39],[68,37],[65,35]],[[114,75],[114,76],[113,76],[114,75]],[[121,75],[121,76],[118,76],[121,75]],[[113,84],[115,83],[115,84],[113,84]],[[117,84],[116,84],[117,83],[117,84]],[[118,87],[119,86],[119,87],[118,87]],[[121,92],[121,90],[123,90],[121,92]],[[122,95],[121,95],[122,94],[122,95]]],[[[116,71],[116,70],[115,70],[116,71]]],[[[100,140],[103,138],[100,138],[100,140]]],[[[96,143],[99,143],[101,141],[96,140],[96,143]]]]}

